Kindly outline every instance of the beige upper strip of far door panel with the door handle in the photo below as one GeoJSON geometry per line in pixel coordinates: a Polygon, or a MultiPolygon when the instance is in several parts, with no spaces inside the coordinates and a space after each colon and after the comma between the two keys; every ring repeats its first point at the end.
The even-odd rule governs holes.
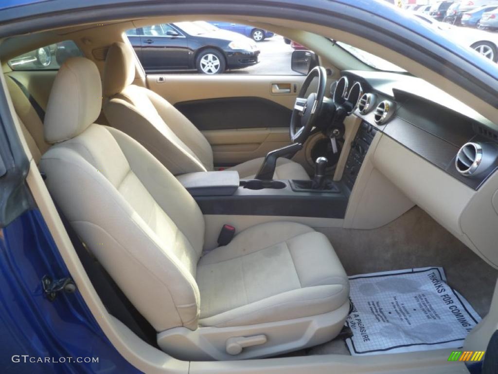
{"type": "Polygon", "coordinates": [[[292,109],[305,78],[303,75],[147,75],[147,86],[173,105],[191,100],[260,97],[292,109]],[[161,81],[158,81],[159,77],[161,81]],[[292,87],[296,84],[296,93],[271,93],[271,85],[274,83],[290,83],[292,87]]]}

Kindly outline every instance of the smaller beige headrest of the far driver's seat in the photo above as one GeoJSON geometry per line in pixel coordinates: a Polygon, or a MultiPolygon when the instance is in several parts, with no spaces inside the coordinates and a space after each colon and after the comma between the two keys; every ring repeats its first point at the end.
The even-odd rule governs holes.
{"type": "Polygon", "coordinates": [[[109,48],[104,66],[104,95],[119,94],[135,79],[135,56],[129,45],[122,41],[109,48]]]}

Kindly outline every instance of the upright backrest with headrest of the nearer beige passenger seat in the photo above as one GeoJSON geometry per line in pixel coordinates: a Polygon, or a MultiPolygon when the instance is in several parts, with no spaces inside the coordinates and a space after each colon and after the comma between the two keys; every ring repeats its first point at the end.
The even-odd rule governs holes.
{"type": "Polygon", "coordinates": [[[197,328],[195,281],[204,218],[176,178],[135,140],[94,124],[102,88],[93,62],[68,59],[47,106],[43,155],[52,196],[156,331],[197,328]]]}

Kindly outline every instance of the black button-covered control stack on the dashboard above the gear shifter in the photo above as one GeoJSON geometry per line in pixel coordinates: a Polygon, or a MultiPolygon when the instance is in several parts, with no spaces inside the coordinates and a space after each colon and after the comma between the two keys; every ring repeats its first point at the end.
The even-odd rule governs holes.
{"type": "Polygon", "coordinates": [[[377,130],[372,125],[363,121],[358,129],[355,140],[351,144],[351,151],[348,156],[348,161],[346,161],[341,180],[350,191],[353,190],[356,178],[358,177],[358,173],[360,172],[360,168],[362,167],[376,132],[377,130]]]}

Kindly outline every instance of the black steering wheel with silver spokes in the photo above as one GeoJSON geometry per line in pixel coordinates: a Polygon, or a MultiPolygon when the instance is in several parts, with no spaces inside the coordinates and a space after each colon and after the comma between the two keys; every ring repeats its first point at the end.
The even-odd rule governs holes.
{"type": "Polygon", "coordinates": [[[322,109],[326,83],[327,72],[322,66],[315,66],[311,69],[304,80],[290,118],[289,132],[290,139],[293,143],[303,144],[310,136],[311,130],[315,126],[316,119],[322,109]],[[318,77],[318,88],[316,92],[312,92],[308,97],[304,97],[311,82],[316,77],[318,77]]]}

